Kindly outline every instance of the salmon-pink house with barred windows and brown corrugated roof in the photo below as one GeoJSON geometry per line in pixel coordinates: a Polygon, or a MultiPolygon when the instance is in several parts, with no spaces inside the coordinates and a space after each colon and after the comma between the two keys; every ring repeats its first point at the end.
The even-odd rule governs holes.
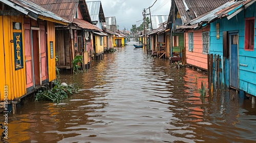
{"type": "Polygon", "coordinates": [[[209,27],[200,30],[190,30],[189,28],[179,28],[189,23],[190,20],[220,6],[228,0],[173,0],[168,17],[168,28],[172,35],[171,54],[182,56],[184,54],[184,62],[186,64],[207,70],[207,54],[209,49],[209,27]],[[185,49],[185,50],[184,50],[185,49]]]}

